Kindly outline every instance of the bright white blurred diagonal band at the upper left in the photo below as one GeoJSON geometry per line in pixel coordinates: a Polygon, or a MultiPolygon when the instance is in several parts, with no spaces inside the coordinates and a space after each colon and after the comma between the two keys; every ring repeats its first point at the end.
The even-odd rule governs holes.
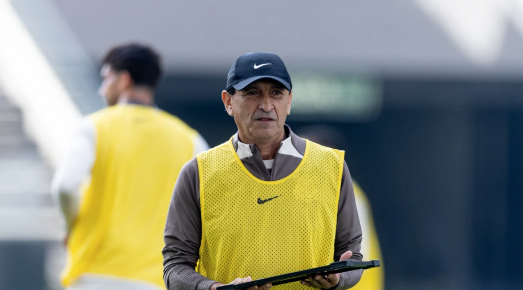
{"type": "Polygon", "coordinates": [[[81,113],[8,0],[0,0],[0,27],[0,84],[24,112],[42,156],[56,166],[81,113]]]}

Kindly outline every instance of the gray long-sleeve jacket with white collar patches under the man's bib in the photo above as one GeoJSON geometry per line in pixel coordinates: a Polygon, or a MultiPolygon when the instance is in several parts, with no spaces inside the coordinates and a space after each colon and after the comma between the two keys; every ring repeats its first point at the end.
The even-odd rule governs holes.
{"type": "MultiPolygon", "coordinates": [[[[279,180],[291,174],[300,164],[305,153],[305,140],[293,134],[285,125],[287,139],[281,142],[274,161],[262,160],[255,144],[244,144],[233,137],[236,153],[247,170],[262,180],[279,180]],[[269,169],[267,169],[269,168],[269,169]]],[[[201,210],[198,162],[189,161],[181,170],[169,211],[164,233],[165,247],[164,280],[169,290],[209,290],[216,282],[195,271],[199,259],[201,243],[201,210]]],[[[344,163],[342,186],[340,188],[334,260],[348,251],[353,251],[351,259],[361,261],[361,226],[356,209],[353,183],[347,164],[344,163]]],[[[361,278],[362,270],[342,273],[336,289],[353,287],[361,278]]]]}

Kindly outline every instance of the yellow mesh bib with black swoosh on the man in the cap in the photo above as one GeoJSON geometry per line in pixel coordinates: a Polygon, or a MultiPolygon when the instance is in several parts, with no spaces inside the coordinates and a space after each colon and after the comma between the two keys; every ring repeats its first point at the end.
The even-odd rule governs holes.
{"type": "MultiPolygon", "coordinates": [[[[230,283],[332,263],[344,154],[307,141],[296,170],[274,182],[249,173],[232,141],[199,154],[197,271],[230,283]]],[[[294,282],[276,288],[306,287],[294,282]]]]}

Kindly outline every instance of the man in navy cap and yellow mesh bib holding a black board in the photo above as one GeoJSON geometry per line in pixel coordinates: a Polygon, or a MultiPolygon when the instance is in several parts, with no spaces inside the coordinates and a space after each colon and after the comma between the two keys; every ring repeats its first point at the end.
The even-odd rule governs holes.
{"type": "MultiPolygon", "coordinates": [[[[167,288],[214,290],[361,260],[361,227],[344,152],[302,139],[285,125],[292,83],[280,57],[238,57],[222,100],[238,132],[180,172],[164,233],[167,288]]],[[[347,289],[361,272],[275,287],[347,289]]]]}

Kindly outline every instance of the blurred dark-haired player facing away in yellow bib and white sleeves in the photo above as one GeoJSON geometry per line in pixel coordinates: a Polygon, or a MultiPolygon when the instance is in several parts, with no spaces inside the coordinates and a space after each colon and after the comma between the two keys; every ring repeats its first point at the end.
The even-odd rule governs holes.
{"type": "Polygon", "coordinates": [[[181,167],[208,146],[155,107],[161,73],[160,56],[139,44],[117,46],[103,59],[99,92],[109,107],[83,120],[53,180],[69,237],[68,289],[165,288],[170,196],[181,167]]]}

